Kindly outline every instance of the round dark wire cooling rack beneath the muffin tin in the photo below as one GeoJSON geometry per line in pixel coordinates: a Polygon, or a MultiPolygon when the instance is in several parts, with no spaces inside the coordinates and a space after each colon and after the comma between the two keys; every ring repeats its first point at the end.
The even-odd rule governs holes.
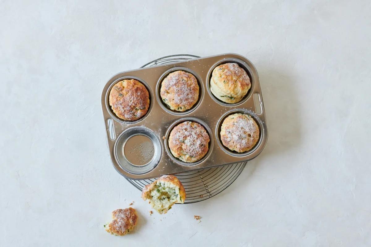
{"type": "MultiPolygon", "coordinates": [[[[176,63],[198,57],[199,56],[188,54],[160,57],[159,59],[144,64],[141,68],[160,64],[176,63]]],[[[184,203],[196,203],[198,201],[203,201],[225,190],[241,174],[246,164],[247,162],[239,162],[225,166],[176,174],[178,179],[183,184],[185,193],[187,195],[184,203]]],[[[136,188],[142,190],[144,186],[154,182],[157,178],[144,180],[126,179],[136,188]]]]}

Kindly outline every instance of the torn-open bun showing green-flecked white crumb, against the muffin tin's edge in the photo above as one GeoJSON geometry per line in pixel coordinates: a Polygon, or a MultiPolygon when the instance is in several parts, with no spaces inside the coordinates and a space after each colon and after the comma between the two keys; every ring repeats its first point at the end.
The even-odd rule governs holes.
{"type": "Polygon", "coordinates": [[[148,199],[159,214],[165,214],[174,203],[184,203],[185,190],[177,177],[164,175],[143,188],[142,198],[148,199]]]}

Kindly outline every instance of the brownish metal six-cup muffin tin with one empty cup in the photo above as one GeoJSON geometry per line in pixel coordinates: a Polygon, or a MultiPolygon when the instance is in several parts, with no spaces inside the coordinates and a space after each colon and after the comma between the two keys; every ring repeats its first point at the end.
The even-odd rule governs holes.
{"type": "Polygon", "coordinates": [[[233,53],[118,73],[106,83],[103,89],[102,111],[112,163],[122,176],[131,179],[154,178],[164,174],[176,174],[251,160],[263,150],[268,137],[257,71],[248,59],[233,53]],[[210,91],[212,71],[223,63],[239,64],[250,77],[251,88],[240,102],[224,103],[214,97],[210,91]],[[200,87],[197,103],[184,112],[168,109],[162,103],[160,96],[161,81],[169,73],[177,70],[193,74],[200,87]],[[119,119],[109,106],[109,92],[114,84],[124,79],[140,81],[150,94],[150,107],[147,114],[136,121],[119,119]],[[234,113],[249,114],[260,128],[259,141],[251,150],[244,153],[229,150],[220,140],[220,127],[223,120],[234,113]],[[185,163],[175,158],[168,148],[168,136],[171,130],[184,121],[201,124],[210,136],[209,151],[195,163],[185,163]],[[147,138],[138,138],[138,135],[147,138]],[[137,145],[135,145],[136,140],[138,140],[137,145]],[[141,143],[142,140],[147,142],[150,140],[152,145],[141,143]],[[132,147],[125,146],[126,143],[130,143],[132,147]],[[147,157],[148,154],[152,157],[147,157]],[[132,163],[141,156],[149,161],[142,162],[143,164],[132,163]]]}

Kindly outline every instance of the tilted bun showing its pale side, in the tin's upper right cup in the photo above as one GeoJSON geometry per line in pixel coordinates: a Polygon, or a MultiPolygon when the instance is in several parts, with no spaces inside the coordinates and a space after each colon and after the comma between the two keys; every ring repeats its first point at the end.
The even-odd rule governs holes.
{"type": "Polygon", "coordinates": [[[237,103],[251,87],[246,71],[236,63],[225,63],[213,70],[210,91],[226,103],[237,103]]]}

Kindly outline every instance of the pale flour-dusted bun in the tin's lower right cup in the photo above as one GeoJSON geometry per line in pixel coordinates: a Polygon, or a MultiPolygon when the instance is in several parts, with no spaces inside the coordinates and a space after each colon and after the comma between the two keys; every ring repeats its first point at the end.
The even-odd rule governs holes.
{"type": "Polygon", "coordinates": [[[221,124],[220,138],[224,146],[242,153],[253,148],[259,140],[259,127],[249,115],[232,114],[221,124]]]}

